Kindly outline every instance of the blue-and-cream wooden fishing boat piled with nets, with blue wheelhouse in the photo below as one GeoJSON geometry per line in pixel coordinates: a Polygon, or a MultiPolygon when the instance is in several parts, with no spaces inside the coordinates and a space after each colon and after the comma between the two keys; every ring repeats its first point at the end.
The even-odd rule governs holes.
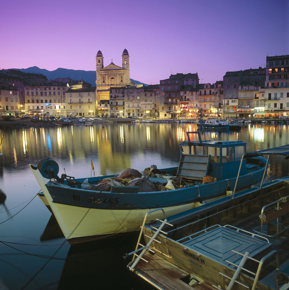
{"type": "MultiPolygon", "coordinates": [[[[266,174],[266,159],[244,160],[242,141],[202,140],[200,132],[187,132],[180,143],[178,167],[144,172],[128,169],[120,175],[75,179],[62,174],[51,158],[30,167],[42,193],[39,197],[55,215],[68,241],[81,241],[139,229],[143,216],[162,207],[173,215],[260,182],[266,174]],[[133,176],[132,176],[133,175],[133,176]]],[[[152,219],[159,213],[153,214],[152,219]]]]}

